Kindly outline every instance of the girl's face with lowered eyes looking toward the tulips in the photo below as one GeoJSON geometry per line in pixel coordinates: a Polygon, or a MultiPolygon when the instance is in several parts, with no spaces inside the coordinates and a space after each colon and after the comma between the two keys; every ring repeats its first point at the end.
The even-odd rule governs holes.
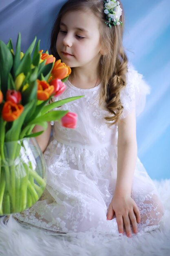
{"type": "Polygon", "coordinates": [[[101,57],[99,20],[89,11],[70,11],[60,22],[57,52],[70,67],[98,65],[101,57]]]}

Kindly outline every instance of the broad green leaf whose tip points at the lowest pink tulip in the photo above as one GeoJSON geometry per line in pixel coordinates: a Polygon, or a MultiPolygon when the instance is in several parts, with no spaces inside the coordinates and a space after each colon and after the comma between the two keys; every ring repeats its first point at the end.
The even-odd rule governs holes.
{"type": "Polygon", "coordinates": [[[40,122],[50,122],[50,121],[59,121],[68,113],[68,110],[56,110],[46,113],[40,117],[33,119],[29,124],[38,124],[40,122]]]}

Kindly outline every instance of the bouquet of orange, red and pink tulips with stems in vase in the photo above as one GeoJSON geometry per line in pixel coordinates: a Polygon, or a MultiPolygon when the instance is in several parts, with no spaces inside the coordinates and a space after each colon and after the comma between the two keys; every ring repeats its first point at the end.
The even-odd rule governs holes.
{"type": "Polygon", "coordinates": [[[40,51],[40,40],[35,44],[36,37],[23,53],[20,34],[15,51],[11,39],[7,45],[0,40],[0,215],[31,207],[45,189],[25,140],[44,132],[48,121],[75,127],[74,113],[53,109],[81,96],[50,101],[65,90],[71,68],[40,51]],[[42,131],[33,133],[35,125],[42,131]]]}

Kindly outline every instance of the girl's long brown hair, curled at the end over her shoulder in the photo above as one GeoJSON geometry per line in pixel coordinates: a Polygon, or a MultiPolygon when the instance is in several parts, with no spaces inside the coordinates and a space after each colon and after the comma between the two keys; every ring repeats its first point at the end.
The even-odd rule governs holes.
{"type": "MultiPolygon", "coordinates": [[[[119,1],[120,2],[120,1],[119,1]]],[[[123,9],[120,2],[121,9],[123,9]]],[[[60,30],[60,20],[68,11],[90,9],[101,21],[100,35],[104,55],[100,58],[99,78],[102,83],[100,102],[105,102],[106,109],[112,114],[105,117],[112,124],[117,123],[123,111],[120,101],[120,91],[126,85],[128,58],[122,44],[124,32],[124,11],[120,17],[123,26],[117,25],[109,28],[106,26],[104,13],[104,0],[68,0],[61,8],[51,32],[50,53],[60,58],[56,50],[56,40],[60,30]]],[[[109,123],[110,123],[109,122],[109,123]]]]}

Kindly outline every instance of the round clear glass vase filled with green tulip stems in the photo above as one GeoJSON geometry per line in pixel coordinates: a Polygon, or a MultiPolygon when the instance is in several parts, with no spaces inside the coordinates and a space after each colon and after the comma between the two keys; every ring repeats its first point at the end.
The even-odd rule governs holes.
{"type": "Polygon", "coordinates": [[[31,207],[46,187],[46,164],[35,138],[0,144],[0,216],[31,207]]]}

